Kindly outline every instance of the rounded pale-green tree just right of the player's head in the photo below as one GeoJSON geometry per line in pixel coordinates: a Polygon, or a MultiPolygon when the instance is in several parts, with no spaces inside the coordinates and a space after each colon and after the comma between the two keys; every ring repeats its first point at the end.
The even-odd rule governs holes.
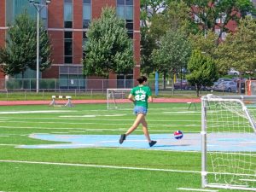
{"type": "Polygon", "coordinates": [[[191,46],[186,35],[181,31],[170,30],[160,38],[159,49],[153,50],[152,60],[156,70],[163,73],[164,82],[166,82],[167,74],[174,74],[187,66],[190,54],[191,46]]]}

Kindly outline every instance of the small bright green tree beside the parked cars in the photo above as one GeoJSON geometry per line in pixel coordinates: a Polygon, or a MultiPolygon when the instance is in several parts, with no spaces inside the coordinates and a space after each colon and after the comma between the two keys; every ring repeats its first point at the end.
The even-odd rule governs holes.
{"type": "Polygon", "coordinates": [[[188,64],[189,74],[186,76],[189,83],[195,85],[196,95],[202,86],[211,86],[218,79],[216,64],[210,56],[203,55],[200,50],[194,50],[188,64]]]}

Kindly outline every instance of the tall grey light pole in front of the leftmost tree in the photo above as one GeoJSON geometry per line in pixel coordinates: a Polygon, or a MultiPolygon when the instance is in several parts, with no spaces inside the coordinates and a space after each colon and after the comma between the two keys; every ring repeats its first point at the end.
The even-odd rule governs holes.
{"type": "Polygon", "coordinates": [[[38,21],[37,21],[37,93],[39,92],[39,16],[42,9],[50,3],[50,0],[29,0],[29,3],[32,4],[38,12],[38,21]]]}

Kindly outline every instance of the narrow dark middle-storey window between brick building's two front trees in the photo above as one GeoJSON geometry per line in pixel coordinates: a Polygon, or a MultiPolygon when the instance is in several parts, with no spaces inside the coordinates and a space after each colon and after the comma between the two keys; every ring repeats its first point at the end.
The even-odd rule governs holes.
{"type": "Polygon", "coordinates": [[[64,32],[64,62],[73,63],[73,32],[64,32]]]}

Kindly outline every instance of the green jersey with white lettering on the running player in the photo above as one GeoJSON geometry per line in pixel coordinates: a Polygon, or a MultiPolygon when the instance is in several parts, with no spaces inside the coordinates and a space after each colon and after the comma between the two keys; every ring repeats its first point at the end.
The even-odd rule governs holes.
{"type": "Polygon", "coordinates": [[[131,95],[134,96],[135,105],[143,106],[144,108],[148,108],[148,96],[152,96],[151,90],[148,86],[137,86],[131,90],[131,95]]]}

